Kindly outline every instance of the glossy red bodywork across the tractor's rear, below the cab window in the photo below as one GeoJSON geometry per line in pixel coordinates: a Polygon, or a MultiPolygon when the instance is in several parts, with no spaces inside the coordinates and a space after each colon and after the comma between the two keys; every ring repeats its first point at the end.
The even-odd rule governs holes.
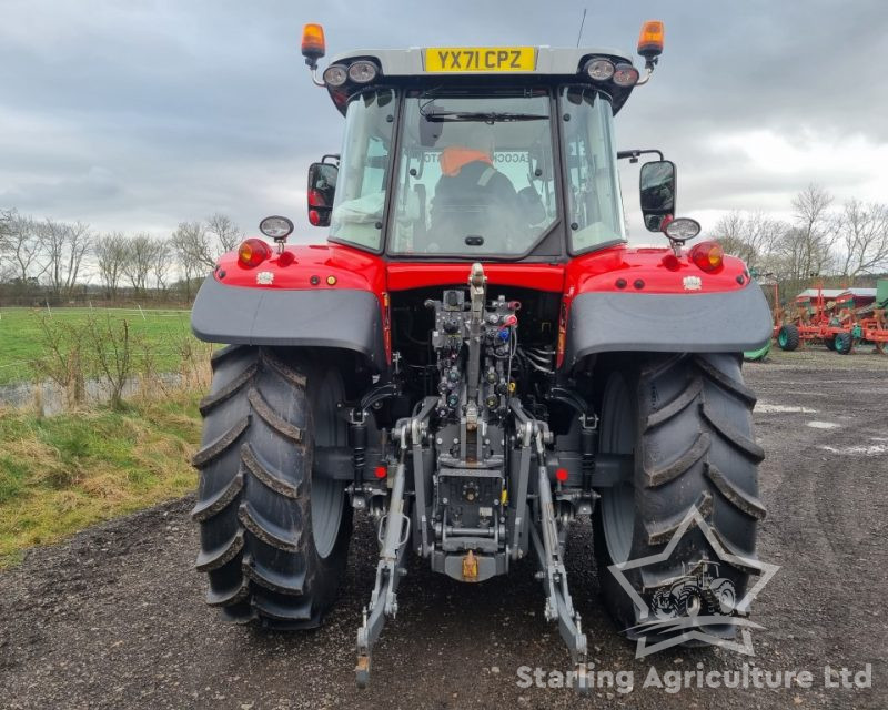
{"type": "MultiPolygon", "coordinates": [[[[254,268],[238,261],[236,252],[220,257],[215,277],[231,286],[253,288],[354,288],[372,291],[380,301],[385,324],[386,356],[391,358],[389,298],[395,291],[427,286],[465,284],[470,264],[438,262],[397,262],[340,244],[287,246],[254,268]],[[329,283],[329,280],[334,283],[329,283]],[[314,282],[314,283],[313,283],[314,282]]],[[[725,256],[720,268],[707,273],[687,255],[676,258],[668,246],[610,246],[577,256],[565,264],[488,262],[484,264],[487,282],[496,286],[519,286],[564,294],[562,321],[566,323],[571,302],[594,291],[632,293],[714,293],[739,291],[749,284],[746,265],[725,256]],[[741,281],[740,281],[741,280],[741,281]]],[[[563,349],[564,343],[558,343],[563,349]]]]}

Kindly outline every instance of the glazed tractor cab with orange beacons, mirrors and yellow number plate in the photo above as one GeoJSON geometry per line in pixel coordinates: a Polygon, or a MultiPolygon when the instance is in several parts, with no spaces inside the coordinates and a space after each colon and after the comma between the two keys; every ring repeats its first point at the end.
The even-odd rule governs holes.
{"type": "MultiPolygon", "coordinates": [[[[614,116],[649,78],[662,24],[642,32],[644,80],[625,52],[548,47],[355,51],[317,79],[323,38],[305,37],[345,116],[342,153],[310,170],[310,220],[331,242],[398,261],[528,262],[625,242],[614,116]]],[[[658,231],[674,165],[644,175],[658,231]]]]}

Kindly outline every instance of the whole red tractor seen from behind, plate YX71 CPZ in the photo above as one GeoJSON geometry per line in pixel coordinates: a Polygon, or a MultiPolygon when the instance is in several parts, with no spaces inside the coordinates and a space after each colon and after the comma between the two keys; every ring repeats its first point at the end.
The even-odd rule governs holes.
{"type": "MultiPolygon", "coordinates": [[[[342,152],[309,171],[326,244],[262,221],[219,260],[194,304],[213,358],[201,404],[198,569],[239,622],[319,626],[353,514],[380,552],[357,632],[357,680],[397,611],[405,557],[464,582],[506,584],[529,557],[545,616],[585,677],[587,640],[565,567],[568,525],[594,525],[604,604],[640,610],[608,568],[662,552],[697,507],[745,560],[764,515],[754,394],[741,353],[770,335],[761,290],[674,219],[675,165],[640,169],[646,226],[626,243],[614,116],[646,83],[663,26],[638,51],[425,48],[303,54],[345,119],[342,152]],[[583,517],[581,517],[583,516],[583,517]]],[[[626,569],[649,599],[714,552],[696,526],[666,561],[626,569]]],[[[630,631],[628,632],[632,633],[630,631]]],[[[730,629],[725,630],[730,633],[730,629]]]]}

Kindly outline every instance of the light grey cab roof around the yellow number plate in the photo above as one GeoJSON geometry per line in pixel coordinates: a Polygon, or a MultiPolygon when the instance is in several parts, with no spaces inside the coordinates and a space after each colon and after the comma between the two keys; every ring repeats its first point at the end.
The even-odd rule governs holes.
{"type": "Polygon", "coordinates": [[[578,82],[594,85],[612,98],[614,113],[616,113],[628,99],[633,87],[620,88],[609,82],[592,82],[584,71],[586,62],[593,57],[604,57],[614,63],[632,64],[632,54],[613,48],[553,48],[553,47],[413,47],[410,49],[366,49],[343,52],[334,55],[330,64],[349,65],[360,59],[369,59],[380,68],[380,74],[370,84],[342,87],[327,87],[333,103],[341,113],[345,113],[349,98],[357,91],[363,91],[367,85],[402,84],[414,88],[423,85],[516,85],[541,80],[565,80],[576,78],[578,82]],[[458,51],[468,55],[471,52],[488,52],[494,50],[528,50],[533,52],[533,68],[509,69],[496,71],[487,69],[461,68],[460,71],[435,71],[426,67],[428,52],[458,51]]]}

